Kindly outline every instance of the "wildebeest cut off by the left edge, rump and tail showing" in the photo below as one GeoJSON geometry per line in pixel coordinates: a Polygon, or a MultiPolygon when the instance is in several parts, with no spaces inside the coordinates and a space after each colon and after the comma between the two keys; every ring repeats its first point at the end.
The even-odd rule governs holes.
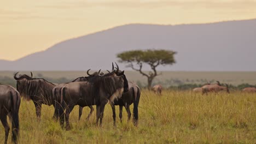
{"type": "Polygon", "coordinates": [[[7,143],[10,127],[7,115],[11,121],[12,140],[18,142],[19,138],[19,109],[20,93],[14,87],[0,85],[0,119],[5,131],[4,143],[7,143]]]}

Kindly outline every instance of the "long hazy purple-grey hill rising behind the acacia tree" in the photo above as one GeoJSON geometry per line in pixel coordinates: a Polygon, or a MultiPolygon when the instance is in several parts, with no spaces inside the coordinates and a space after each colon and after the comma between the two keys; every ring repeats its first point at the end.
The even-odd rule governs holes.
{"type": "Polygon", "coordinates": [[[0,60],[0,70],[111,69],[117,53],[135,49],[177,51],[177,63],[160,70],[256,71],[256,19],[124,25],[62,41],[17,61],[0,60]]]}

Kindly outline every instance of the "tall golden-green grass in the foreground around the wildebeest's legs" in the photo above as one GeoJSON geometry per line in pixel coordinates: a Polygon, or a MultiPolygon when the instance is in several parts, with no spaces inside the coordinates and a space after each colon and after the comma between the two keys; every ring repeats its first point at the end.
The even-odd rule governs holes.
{"type": "MultiPolygon", "coordinates": [[[[32,101],[22,100],[20,143],[256,143],[255,106],[256,95],[241,92],[201,95],[164,91],[159,96],[142,90],[138,127],[127,123],[125,110],[124,123],[117,117],[117,127],[113,127],[107,104],[103,127],[96,127],[95,112],[86,121],[88,107],[78,121],[76,106],[70,116],[72,130],[66,131],[51,119],[53,106],[43,105],[38,122],[32,101]]],[[[4,129],[0,129],[3,141],[4,129]]]]}

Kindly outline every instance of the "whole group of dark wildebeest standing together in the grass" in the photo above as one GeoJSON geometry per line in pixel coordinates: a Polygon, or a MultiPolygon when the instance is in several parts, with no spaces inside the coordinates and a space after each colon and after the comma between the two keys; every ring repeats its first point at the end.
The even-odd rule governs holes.
{"type": "MultiPolygon", "coordinates": [[[[117,63],[115,63],[117,65],[117,63]]],[[[90,69],[89,69],[90,70],[90,69]]],[[[5,129],[5,143],[9,135],[9,125],[7,115],[10,118],[13,133],[12,140],[18,142],[19,136],[19,107],[20,99],[32,100],[36,107],[36,116],[40,119],[42,104],[53,105],[53,118],[60,120],[62,128],[70,130],[69,114],[75,105],[79,105],[79,119],[82,115],[84,106],[89,106],[91,111],[87,119],[94,111],[92,105],[96,105],[96,124],[102,125],[104,107],[109,102],[113,111],[113,121],[115,125],[115,105],[119,105],[119,117],[122,122],[122,110],[125,107],[128,115],[128,121],[131,118],[130,105],[133,103],[133,124],[138,124],[138,104],[141,95],[139,87],[132,82],[128,82],[124,71],[121,71],[117,65],[108,73],[100,73],[100,70],[94,74],[87,71],[88,77],[78,77],[68,83],[51,83],[44,79],[33,78],[26,74],[14,74],[16,80],[16,89],[7,85],[0,85],[0,119],[5,129]],[[66,124],[66,125],[65,125],[66,124]]]]}

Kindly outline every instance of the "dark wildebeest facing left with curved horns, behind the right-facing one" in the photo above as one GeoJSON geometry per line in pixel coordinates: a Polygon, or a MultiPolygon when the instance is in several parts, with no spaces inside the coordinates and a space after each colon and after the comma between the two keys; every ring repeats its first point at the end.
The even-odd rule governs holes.
{"type": "MultiPolygon", "coordinates": [[[[54,105],[55,107],[53,88],[57,84],[48,82],[44,79],[33,78],[32,73],[31,76],[24,74],[16,77],[18,73],[14,75],[14,79],[17,81],[17,91],[20,92],[21,97],[24,97],[26,100],[31,99],[33,101],[34,106],[36,107],[37,118],[41,117],[42,104],[49,106],[54,105]]],[[[55,115],[56,114],[54,113],[54,116],[55,115]]]]}

